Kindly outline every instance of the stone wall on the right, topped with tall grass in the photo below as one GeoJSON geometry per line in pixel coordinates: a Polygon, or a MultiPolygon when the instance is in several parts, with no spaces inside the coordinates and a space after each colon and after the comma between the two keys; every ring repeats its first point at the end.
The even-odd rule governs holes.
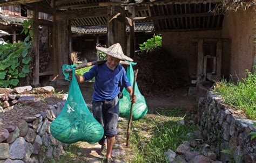
{"type": "Polygon", "coordinates": [[[256,139],[248,135],[256,131],[256,121],[246,119],[242,111],[231,109],[211,91],[200,98],[199,109],[203,138],[214,145],[221,161],[256,162],[256,139]]]}

